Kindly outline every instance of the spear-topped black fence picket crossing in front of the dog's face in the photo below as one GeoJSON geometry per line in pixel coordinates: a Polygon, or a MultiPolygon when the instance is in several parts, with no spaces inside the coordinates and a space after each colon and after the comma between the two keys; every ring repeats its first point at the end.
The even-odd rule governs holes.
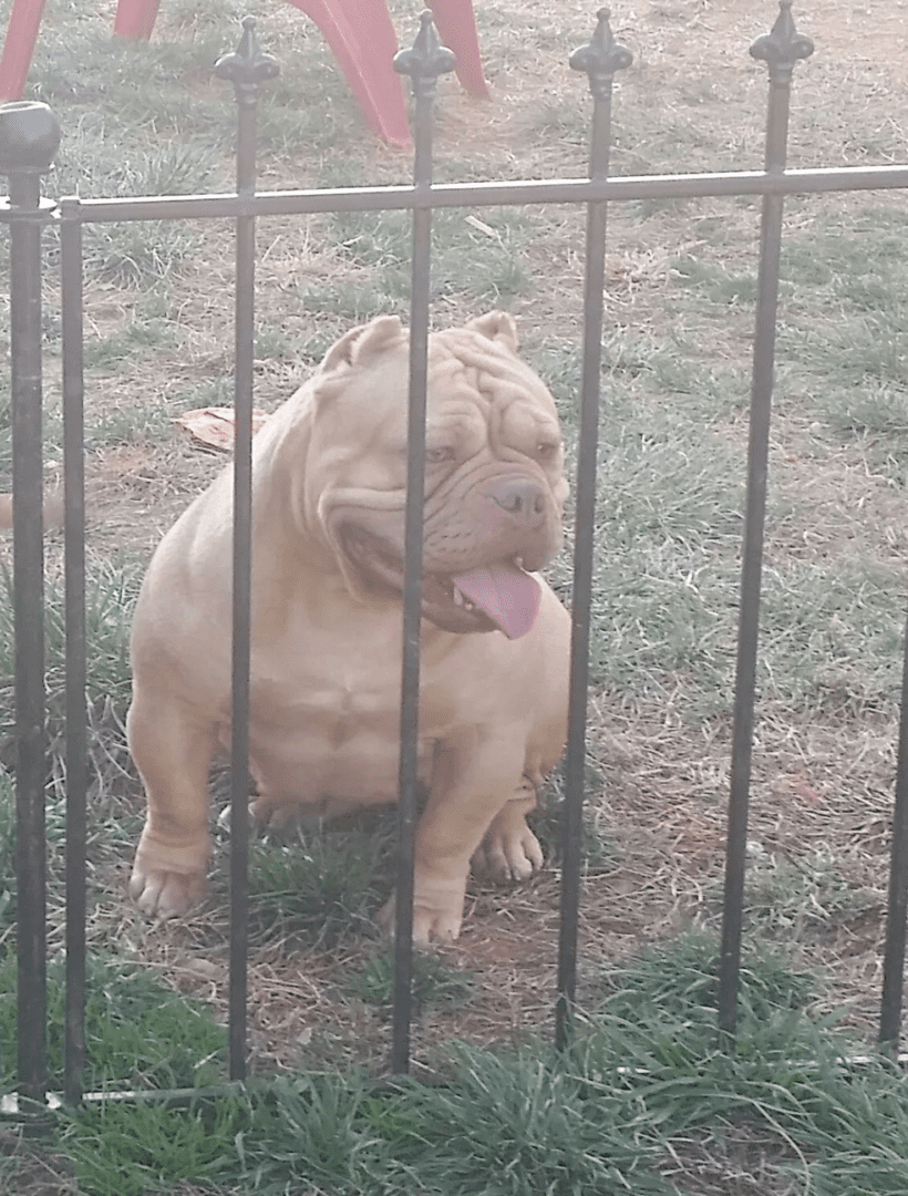
{"type": "Polygon", "coordinates": [[[428,306],[432,268],[432,133],[435,84],[453,71],[455,56],[439,44],[432,13],[394,68],[409,75],[415,99],[413,184],[423,202],[413,209],[410,263],[410,362],[407,416],[407,508],[403,532],[403,660],[401,688],[400,805],[395,889],[394,1014],[391,1070],[406,1074],[410,1060],[413,977],[413,868],[419,787],[420,626],[422,622],[422,507],[425,501],[428,306]]]}

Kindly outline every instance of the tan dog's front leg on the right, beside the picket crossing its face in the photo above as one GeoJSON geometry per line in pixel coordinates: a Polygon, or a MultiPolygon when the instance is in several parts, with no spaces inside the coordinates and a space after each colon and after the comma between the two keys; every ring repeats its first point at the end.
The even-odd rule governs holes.
{"type": "Polygon", "coordinates": [[[470,858],[518,787],[526,753],[524,727],[471,731],[438,745],[432,787],[416,828],[413,940],[456,939],[470,858]]]}

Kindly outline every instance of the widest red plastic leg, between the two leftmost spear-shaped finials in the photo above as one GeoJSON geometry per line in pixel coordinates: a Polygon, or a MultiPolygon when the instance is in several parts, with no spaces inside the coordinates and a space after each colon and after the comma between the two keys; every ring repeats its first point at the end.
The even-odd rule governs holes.
{"type": "Polygon", "coordinates": [[[391,145],[410,144],[397,36],[386,0],[290,0],[321,29],[372,128],[391,145]]]}

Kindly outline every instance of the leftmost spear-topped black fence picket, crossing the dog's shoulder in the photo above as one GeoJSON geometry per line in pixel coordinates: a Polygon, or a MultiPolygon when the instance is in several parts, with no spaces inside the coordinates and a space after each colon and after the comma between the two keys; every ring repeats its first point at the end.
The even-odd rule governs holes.
{"type": "MultiPolygon", "coordinates": [[[[255,19],[243,19],[233,54],[215,71],[237,97],[237,194],[251,199],[256,175],[256,108],[278,63],[263,54],[255,19]]],[[[246,956],[249,946],[249,658],[252,600],[252,371],[255,364],[255,216],[237,216],[233,399],[233,657],[230,807],[230,1078],[246,1075],[246,956]]]]}

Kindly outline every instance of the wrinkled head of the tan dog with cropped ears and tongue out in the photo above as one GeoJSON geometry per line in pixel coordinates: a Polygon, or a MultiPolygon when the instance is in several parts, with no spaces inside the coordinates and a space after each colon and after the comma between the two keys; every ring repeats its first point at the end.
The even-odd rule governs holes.
{"type": "MultiPolygon", "coordinates": [[[[303,518],[366,600],[403,586],[408,376],[407,332],[388,316],[337,341],[311,384],[303,518]]],[[[504,312],[429,337],[425,494],[423,617],[523,635],[567,483],[554,401],[504,312]]]]}

